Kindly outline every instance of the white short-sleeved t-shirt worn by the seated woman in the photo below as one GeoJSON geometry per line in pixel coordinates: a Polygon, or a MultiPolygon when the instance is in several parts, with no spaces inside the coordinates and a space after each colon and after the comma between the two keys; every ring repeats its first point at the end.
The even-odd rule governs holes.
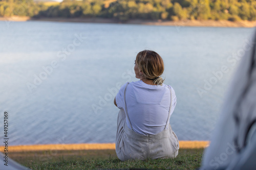
{"type": "MultiPolygon", "coordinates": [[[[124,89],[125,83],[116,95],[116,104],[125,111],[124,89]]],[[[172,90],[172,107],[170,115],[176,106],[176,95],[172,90]]],[[[164,130],[166,122],[169,123],[170,90],[167,85],[149,85],[143,81],[131,82],[126,89],[126,107],[133,130],[139,134],[157,134],[164,130]]],[[[130,127],[126,117],[126,124],[130,127]]]]}

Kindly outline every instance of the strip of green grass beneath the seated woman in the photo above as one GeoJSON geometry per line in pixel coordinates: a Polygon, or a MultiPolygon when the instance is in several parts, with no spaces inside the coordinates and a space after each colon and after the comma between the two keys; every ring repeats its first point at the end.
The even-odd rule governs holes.
{"type": "Polygon", "coordinates": [[[15,161],[31,169],[197,169],[203,149],[180,149],[175,159],[120,161],[115,150],[24,152],[12,154],[15,161]],[[34,155],[34,157],[33,157],[34,155]],[[49,155],[51,155],[49,157],[49,155]],[[44,158],[45,156],[45,158],[44,158]]]}

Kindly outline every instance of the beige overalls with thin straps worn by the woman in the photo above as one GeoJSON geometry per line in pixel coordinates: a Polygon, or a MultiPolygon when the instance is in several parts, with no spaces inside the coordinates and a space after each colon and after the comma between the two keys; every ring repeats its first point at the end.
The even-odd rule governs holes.
{"type": "MultiPolygon", "coordinates": [[[[129,83],[127,83],[128,85],[129,83]]],[[[126,125],[126,116],[131,122],[127,114],[127,107],[125,102],[124,90],[124,104],[125,111],[120,109],[117,118],[117,134],[116,134],[116,154],[121,161],[129,159],[145,160],[147,158],[175,158],[178,155],[179,141],[168,123],[170,116],[170,108],[168,118],[166,120],[165,128],[162,132],[155,135],[142,135],[136,133],[126,125]]],[[[169,87],[169,86],[168,86],[169,87]]],[[[170,88],[169,88],[170,90],[170,88]]],[[[170,90],[170,107],[172,107],[172,90],[170,90]]]]}

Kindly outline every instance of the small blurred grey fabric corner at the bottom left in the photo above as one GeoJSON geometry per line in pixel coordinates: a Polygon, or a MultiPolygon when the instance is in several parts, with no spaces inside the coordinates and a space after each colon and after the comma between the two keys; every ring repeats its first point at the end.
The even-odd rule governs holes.
{"type": "MultiPolygon", "coordinates": [[[[9,154],[9,153],[8,153],[9,154]]],[[[0,157],[3,159],[5,159],[5,155],[0,152],[0,157]]],[[[8,166],[5,165],[5,161],[1,161],[0,163],[0,169],[1,170],[30,170],[30,168],[27,168],[25,166],[22,166],[20,164],[18,164],[17,162],[15,162],[14,160],[10,159],[10,157],[8,156],[8,166]]]]}

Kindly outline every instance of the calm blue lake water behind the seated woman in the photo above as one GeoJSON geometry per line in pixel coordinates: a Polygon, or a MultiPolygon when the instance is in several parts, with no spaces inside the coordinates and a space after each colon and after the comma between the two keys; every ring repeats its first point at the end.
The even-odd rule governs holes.
{"type": "MultiPolygon", "coordinates": [[[[115,142],[120,85],[154,50],[176,91],[179,140],[209,140],[251,28],[0,21],[0,136],[9,145],[115,142]]],[[[3,145],[3,142],[2,144],[3,145]]]]}

